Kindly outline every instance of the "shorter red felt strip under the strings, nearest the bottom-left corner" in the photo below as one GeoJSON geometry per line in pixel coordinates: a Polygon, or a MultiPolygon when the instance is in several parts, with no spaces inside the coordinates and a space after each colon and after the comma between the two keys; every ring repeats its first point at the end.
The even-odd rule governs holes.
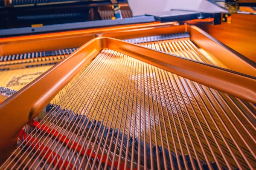
{"type": "MultiPolygon", "coordinates": [[[[20,130],[19,133],[19,138],[20,140],[23,139],[23,141],[27,140],[29,141],[27,144],[31,147],[35,147],[35,150],[38,150],[37,153],[40,154],[41,157],[43,157],[45,155],[45,159],[48,159],[48,162],[51,163],[53,161],[54,164],[57,164],[57,161],[59,161],[58,166],[61,167],[61,165],[63,164],[62,159],[60,158],[59,155],[57,155],[55,152],[52,153],[52,150],[49,149],[49,147],[45,147],[44,145],[39,144],[38,140],[36,140],[35,138],[32,138],[31,135],[28,135],[23,129],[20,130]],[[52,153],[52,154],[51,154],[52,153]],[[53,157],[55,157],[57,155],[57,157],[52,160],[53,157]]],[[[64,162],[65,167],[67,167],[68,165],[68,161],[64,162]]],[[[70,164],[70,168],[73,168],[73,164],[70,164]]],[[[64,170],[64,168],[62,168],[64,170]]]]}

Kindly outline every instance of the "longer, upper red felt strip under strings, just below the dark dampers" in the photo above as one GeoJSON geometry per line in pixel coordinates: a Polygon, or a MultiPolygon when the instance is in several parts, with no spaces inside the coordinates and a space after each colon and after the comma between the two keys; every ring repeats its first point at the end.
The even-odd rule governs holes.
{"type": "MultiPolygon", "coordinates": [[[[38,128],[38,129],[41,129],[41,130],[44,130],[47,134],[51,133],[51,135],[55,136],[56,139],[60,140],[61,142],[64,142],[65,144],[67,144],[68,147],[71,147],[72,144],[73,144],[72,149],[76,149],[76,147],[77,147],[77,145],[78,145],[77,151],[80,152],[80,150],[82,150],[82,151],[81,151],[81,154],[83,154],[83,155],[86,154],[87,156],[90,156],[90,153],[92,152],[92,150],[91,150],[90,148],[88,148],[87,152],[85,153],[85,150],[82,149],[82,146],[81,146],[80,144],[78,144],[77,142],[71,141],[68,137],[66,138],[65,135],[62,135],[62,134],[58,133],[57,130],[55,130],[55,129],[52,129],[52,132],[51,132],[51,129],[50,129],[49,127],[47,127],[46,125],[40,125],[39,122],[37,122],[37,121],[35,121],[35,120],[29,122],[29,124],[32,125],[33,127],[36,127],[36,128],[38,128]],[[66,140],[65,140],[65,138],[66,138],[66,140]],[[69,142],[69,140],[70,140],[70,142],[69,142]]],[[[101,154],[98,154],[98,155],[96,156],[95,153],[92,153],[92,157],[93,157],[93,159],[95,159],[95,158],[97,157],[97,158],[100,160],[101,157],[102,157],[102,155],[101,155],[101,154]]],[[[103,155],[103,160],[102,160],[102,162],[103,162],[103,163],[106,163],[106,161],[107,161],[107,156],[103,155]]],[[[108,166],[111,167],[111,165],[112,165],[112,164],[111,164],[111,161],[109,160],[109,161],[108,161],[108,166]]],[[[115,167],[116,169],[117,169],[117,166],[118,166],[118,161],[114,161],[114,167],[115,167]]],[[[120,163],[119,170],[124,170],[124,167],[125,167],[125,165],[122,164],[122,163],[120,163]]],[[[126,169],[127,169],[127,170],[130,170],[130,168],[126,168],[126,169]]],[[[136,169],[134,169],[134,170],[136,170],[136,169]]]]}

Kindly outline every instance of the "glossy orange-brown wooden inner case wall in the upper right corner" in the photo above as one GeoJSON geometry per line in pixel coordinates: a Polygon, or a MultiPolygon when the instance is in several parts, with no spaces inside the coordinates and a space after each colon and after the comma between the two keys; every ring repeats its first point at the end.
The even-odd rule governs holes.
{"type": "Polygon", "coordinates": [[[212,37],[256,62],[256,15],[232,14],[232,22],[198,25],[212,37]]]}

